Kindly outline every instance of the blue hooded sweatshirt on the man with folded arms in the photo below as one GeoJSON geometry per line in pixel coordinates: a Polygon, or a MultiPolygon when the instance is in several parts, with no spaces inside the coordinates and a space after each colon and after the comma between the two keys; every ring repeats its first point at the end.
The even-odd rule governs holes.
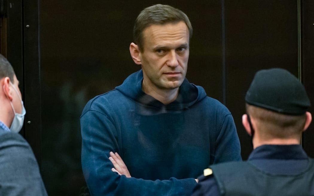
{"type": "Polygon", "coordinates": [[[211,164],[240,161],[229,110],[184,80],[165,105],[142,91],[142,70],[91,99],[81,115],[82,168],[91,195],[191,195],[211,164]],[[112,172],[118,152],[132,177],[112,172]]]}

